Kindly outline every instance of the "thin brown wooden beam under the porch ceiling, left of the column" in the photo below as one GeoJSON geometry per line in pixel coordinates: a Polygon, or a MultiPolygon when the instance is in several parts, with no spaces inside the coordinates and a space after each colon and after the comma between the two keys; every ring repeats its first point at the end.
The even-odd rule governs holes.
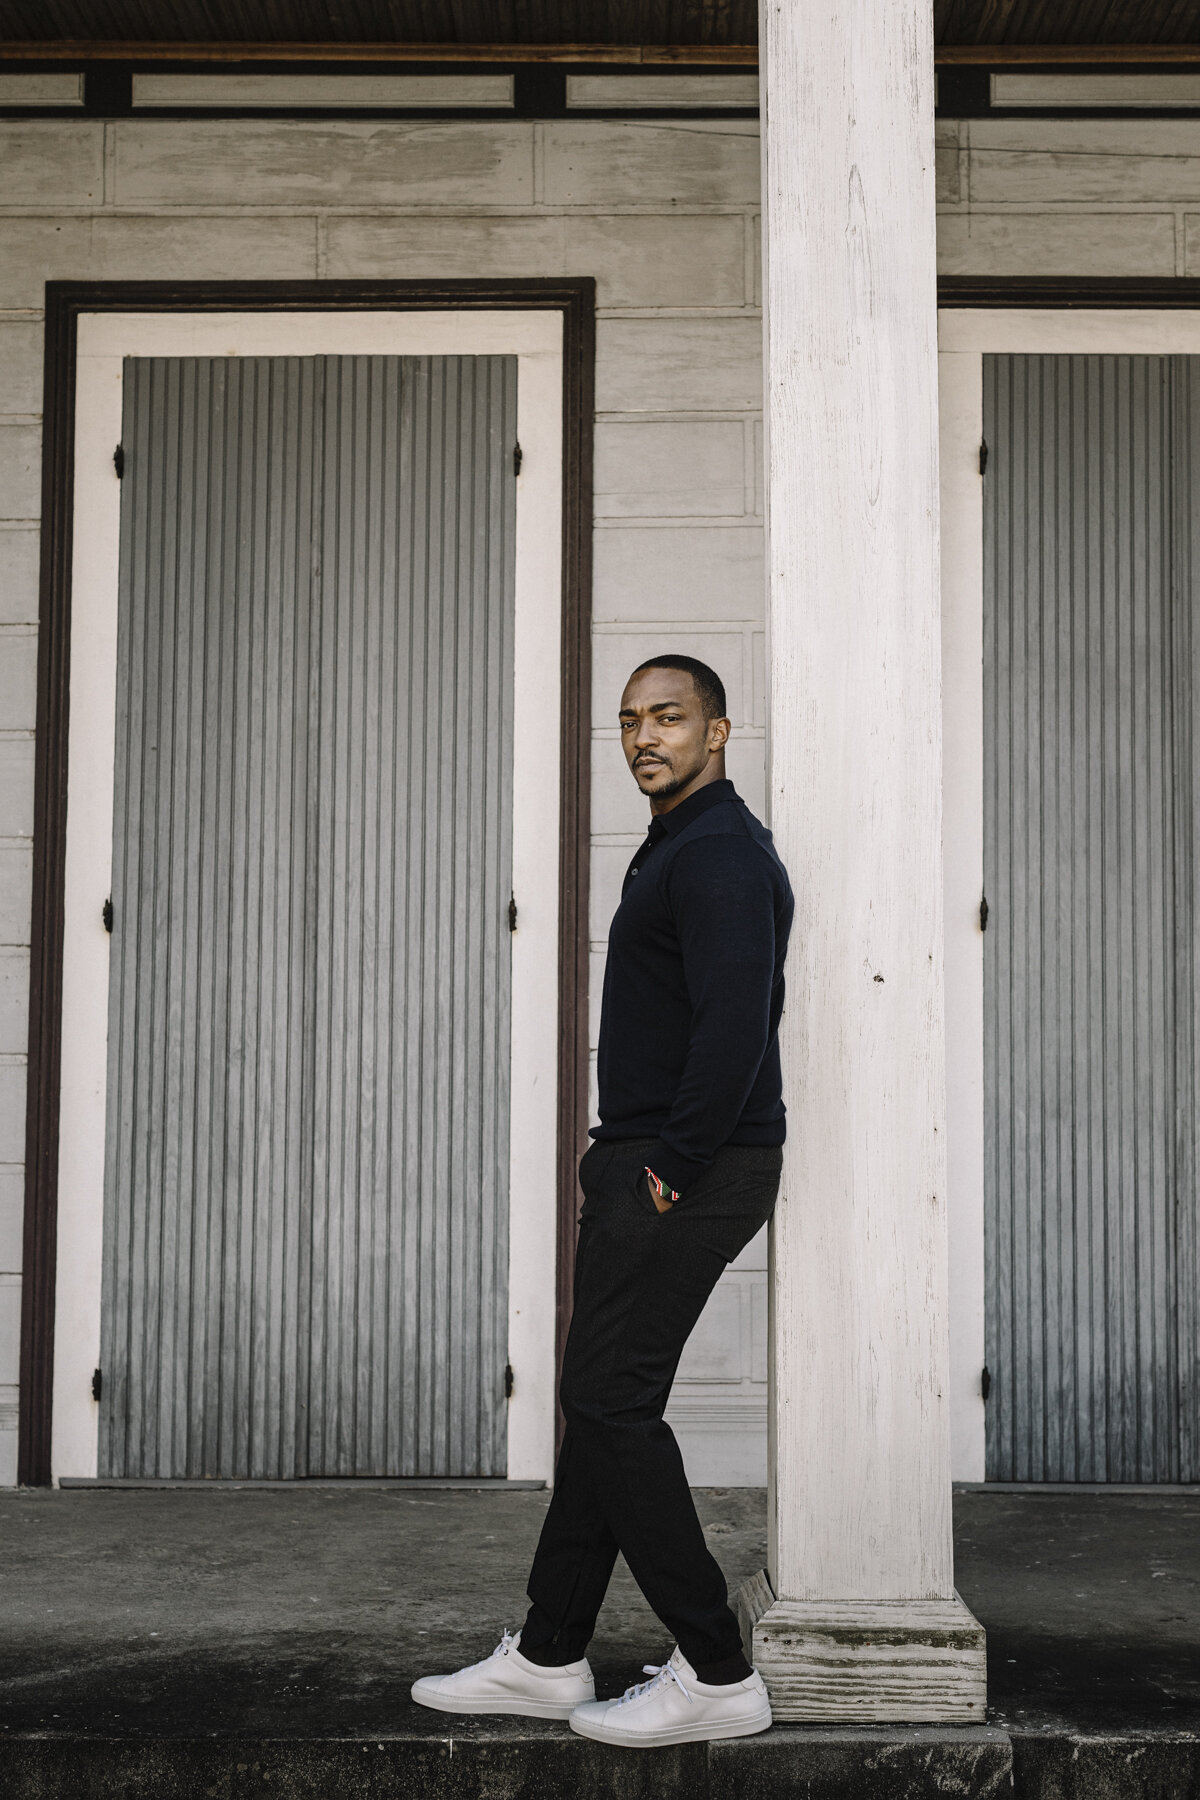
{"type": "Polygon", "coordinates": [[[756,68],[756,43],[148,43],[0,41],[7,63],[644,63],[756,68]]]}

